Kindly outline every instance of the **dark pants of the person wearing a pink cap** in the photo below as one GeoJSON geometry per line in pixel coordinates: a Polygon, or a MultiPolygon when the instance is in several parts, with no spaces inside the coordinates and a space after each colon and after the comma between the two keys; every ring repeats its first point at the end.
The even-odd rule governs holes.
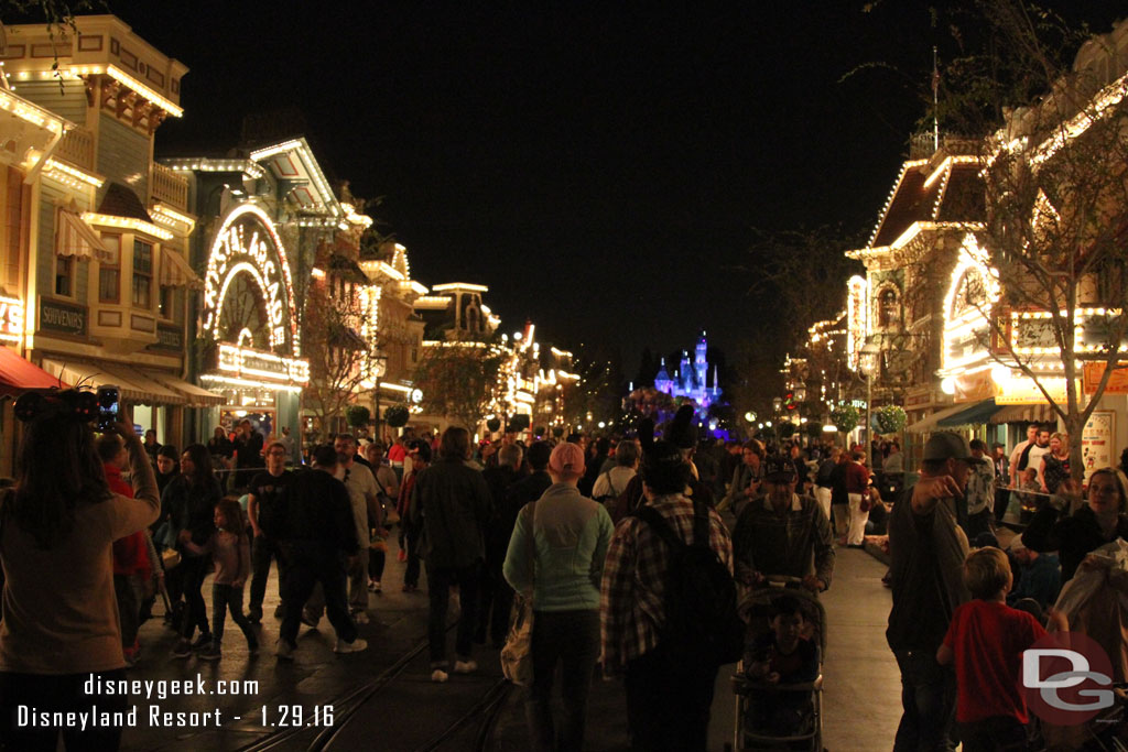
{"type": "Polygon", "coordinates": [[[532,685],[525,717],[535,752],[580,752],[588,719],[588,691],[599,660],[599,611],[536,611],[532,620],[532,685]],[[553,724],[553,678],[561,665],[564,716],[553,724]],[[558,743],[557,743],[558,741],[558,743]]]}

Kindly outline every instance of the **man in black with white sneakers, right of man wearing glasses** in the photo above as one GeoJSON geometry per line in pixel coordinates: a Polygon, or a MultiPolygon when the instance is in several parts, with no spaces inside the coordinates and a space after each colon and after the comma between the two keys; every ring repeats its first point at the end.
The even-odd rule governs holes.
{"type": "Polygon", "coordinates": [[[368,643],[356,636],[356,625],[349,616],[344,557],[355,557],[359,545],[349,492],[333,477],[336,469],[337,453],[333,446],[318,446],[314,451],[314,469],[297,474],[281,501],[285,515],[281,543],[288,566],[279,658],[293,658],[301,609],[318,582],[325,593],[329,622],[337,632],[334,649],[355,653],[368,647],[368,643]]]}

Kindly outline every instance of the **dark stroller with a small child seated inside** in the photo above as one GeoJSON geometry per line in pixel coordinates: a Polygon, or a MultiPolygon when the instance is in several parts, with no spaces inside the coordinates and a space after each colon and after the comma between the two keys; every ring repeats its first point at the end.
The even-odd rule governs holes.
{"type": "Polygon", "coordinates": [[[770,576],[765,586],[741,599],[739,609],[748,623],[748,638],[744,658],[737,664],[732,676],[737,696],[734,752],[822,752],[822,654],[827,619],[818,598],[802,589],[801,583],[797,577],[770,576]],[[800,625],[791,626],[799,629],[800,647],[791,655],[778,656],[784,661],[765,655],[765,646],[776,639],[775,628],[788,628],[774,627],[774,617],[781,611],[795,610],[803,617],[800,625]],[[795,671],[784,667],[788,662],[795,671]],[[769,666],[777,671],[770,671],[769,666]]]}

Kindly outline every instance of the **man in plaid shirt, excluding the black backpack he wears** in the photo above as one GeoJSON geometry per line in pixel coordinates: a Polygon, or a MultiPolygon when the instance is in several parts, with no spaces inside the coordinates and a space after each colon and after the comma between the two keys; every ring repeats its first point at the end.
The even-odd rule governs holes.
{"type": "MultiPolygon", "coordinates": [[[[677,446],[659,441],[642,466],[646,503],[687,543],[694,505],[684,495],[689,467],[677,446]]],[[[710,548],[732,570],[732,541],[708,510],[710,548]]],[[[677,667],[678,646],[659,644],[664,623],[662,592],[669,551],[659,534],[634,515],[615,529],[603,564],[600,627],[603,673],[624,674],[632,750],[704,750],[719,666],[677,667]]]]}

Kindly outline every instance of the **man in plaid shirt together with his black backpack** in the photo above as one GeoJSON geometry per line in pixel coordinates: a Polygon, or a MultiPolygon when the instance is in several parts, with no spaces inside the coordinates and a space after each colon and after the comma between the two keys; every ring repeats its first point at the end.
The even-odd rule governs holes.
{"type": "Polygon", "coordinates": [[[603,564],[603,673],[624,675],[632,750],[705,750],[717,670],[743,649],[732,541],[711,505],[685,495],[681,450],[645,453],[646,503],[616,527],[603,564]]]}

